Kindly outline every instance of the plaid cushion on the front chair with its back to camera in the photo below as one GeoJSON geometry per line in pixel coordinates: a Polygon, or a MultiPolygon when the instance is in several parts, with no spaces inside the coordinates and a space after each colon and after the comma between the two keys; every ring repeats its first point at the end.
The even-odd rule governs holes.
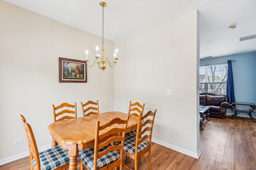
{"type": "MultiPolygon", "coordinates": [[[[111,146],[111,145],[108,145],[108,146],[103,147],[102,149],[99,149],[98,154],[100,152],[102,152],[103,150],[107,149],[109,146],[111,146]]],[[[93,170],[94,147],[90,147],[88,149],[81,150],[78,154],[79,154],[82,162],[84,162],[84,164],[90,170],[93,170]]],[[[111,164],[112,162],[115,162],[119,158],[120,158],[120,152],[118,152],[117,150],[112,150],[112,151],[108,152],[107,154],[105,154],[104,156],[102,156],[101,158],[98,158],[97,169],[102,168],[103,166],[106,166],[108,164],[111,164]]]]}

